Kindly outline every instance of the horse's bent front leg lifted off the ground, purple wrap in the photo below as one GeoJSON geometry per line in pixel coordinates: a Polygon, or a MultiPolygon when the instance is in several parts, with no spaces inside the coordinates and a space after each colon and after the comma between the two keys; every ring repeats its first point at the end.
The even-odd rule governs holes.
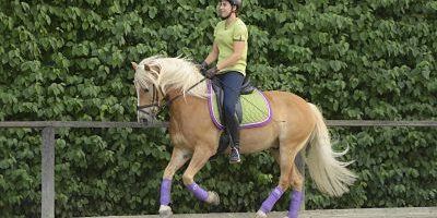
{"type": "Polygon", "coordinates": [[[216,192],[206,192],[194,182],[194,175],[203,168],[212,155],[213,152],[208,147],[196,147],[191,161],[188,165],[187,170],[184,172],[182,180],[187,190],[198,199],[212,205],[218,205],[220,197],[216,192]]]}

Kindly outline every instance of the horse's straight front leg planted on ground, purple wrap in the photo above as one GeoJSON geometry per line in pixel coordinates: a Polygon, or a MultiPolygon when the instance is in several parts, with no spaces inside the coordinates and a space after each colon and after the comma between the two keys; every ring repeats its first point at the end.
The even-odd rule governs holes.
{"type": "Polygon", "coordinates": [[[175,172],[180,169],[188,159],[190,159],[191,153],[187,149],[174,147],[172,159],[164,170],[163,181],[161,183],[161,198],[160,198],[160,216],[169,217],[173,215],[172,207],[168,204],[172,202],[172,180],[175,172]]]}

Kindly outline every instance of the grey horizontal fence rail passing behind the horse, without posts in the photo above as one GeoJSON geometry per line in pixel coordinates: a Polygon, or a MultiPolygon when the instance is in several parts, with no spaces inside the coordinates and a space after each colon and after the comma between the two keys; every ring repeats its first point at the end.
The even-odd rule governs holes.
{"type": "MultiPolygon", "coordinates": [[[[385,120],[327,120],[329,126],[412,126],[434,128],[437,121],[385,121],[385,120]]],[[[0,128],[167,128],[167,122],[150,124],[139,122],[101,121],[3,121],[0,128]]]]}

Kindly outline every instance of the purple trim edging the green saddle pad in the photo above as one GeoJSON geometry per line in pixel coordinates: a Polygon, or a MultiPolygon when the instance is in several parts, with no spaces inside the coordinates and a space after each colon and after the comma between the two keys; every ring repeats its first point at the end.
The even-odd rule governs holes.
{"type": "MultiPolygon", "coordinates": [[[[269,110],[269,111],[268,111],[268,114],[269,114],[269,116],[268,116],[268,118],[267,118],[264,121],[261,121],[261,122],[252,122],[252,123],[247,123],[247,124],[240,124],[240,125],[239,125],[240,129],[261,128],[261,126],[268,124],[268,123],[272,120],[272,117],[273,117],[273,116],[272,116],[272,109],[271,109],[271,107],[270,107],[269,100],[267,100],[265,95],[264,95],[261,90],[259,90],[258,88],[256,88],[255,92],[259,92],[259,93],[261,94],[262,99],[263,99],[264,102],[267,104],[267,107],[268,107],[268,110],[269,110]]],[[[220,121],[216,119],[216,118],[218,118],[220,116],[214,113],[214,107],[213,107],[214,102],[212,101],[212,100],[213,100],[212,95],[215,95],[214,92],[213,92],[213,89],[212,89],[212,83],[211,83],[211,82],[208,82],[208,109],[209,109],[209,111],[210,111],[210,117],[211,117],[212,122],[215,124],[215,126],[216,126],[218,130],[223,130],[223,129],[225,129],[225,126],[222,125],[222,124],[220,123],[220,121]]]]}

